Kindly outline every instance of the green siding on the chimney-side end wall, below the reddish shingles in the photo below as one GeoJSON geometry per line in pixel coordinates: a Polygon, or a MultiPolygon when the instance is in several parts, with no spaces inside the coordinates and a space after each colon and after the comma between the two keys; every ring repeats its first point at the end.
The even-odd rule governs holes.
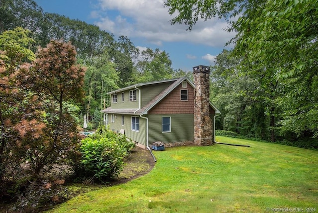
{"type": "Polygon", "coordinates": [[[149,144],[162,141],[180,142],[194,139],[193,114],[149,114],[149,144]],[[171,117],[171,131],[162,132],[162,117],[171,117]]]}

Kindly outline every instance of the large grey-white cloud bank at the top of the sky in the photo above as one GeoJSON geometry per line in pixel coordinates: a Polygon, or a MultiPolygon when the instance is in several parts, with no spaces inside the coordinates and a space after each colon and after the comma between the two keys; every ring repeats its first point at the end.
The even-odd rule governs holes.
{"type": "Polygon", "coordinates": [[[92,16],[103,16],[95,22],[101,29],[117,36],[143,37],[158,46],[162,42],[185,41],[224,47],[235,35],[224,30],[226,21],[217,19],[200,20],[192,31],[186,31],[184,25],[171,25],[172,16],[163,7],[163,0],[99,0],[99,8],[99,14],[94,11],[92,16]]]}

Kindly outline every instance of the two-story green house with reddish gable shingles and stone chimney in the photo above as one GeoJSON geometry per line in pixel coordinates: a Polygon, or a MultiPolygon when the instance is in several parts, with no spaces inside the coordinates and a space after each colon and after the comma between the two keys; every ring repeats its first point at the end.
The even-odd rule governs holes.
{"type": "MultiPolygon", "coordinates": [[[[209,67],[204,69],[210,72],[209,67]]],[[[197,67],[197,70],[204,69],[202,66],[197,67]]],[[[182,77],[140,83],[107,93],[111,96],[111,105],[102,110],[104,124],[113,131],[125,134],[143,148],[149,148],[156,141],[164,142],[165,147],[193,143],[209,145],[209,142],[196,142],[196,138],[201,137],[207,137],[212,144],[213,120],[220,111],[209,101],[209,73],[198,72],[194,75],[201,75],[200,73],[207,75],[201,81],[203,79],[208,85],[197,80],[200,85],[196,88],[187,77],[182,77]],[[207,104],[196,104],[195,100],[204,100],[207,104]],[[206,109],[204,112],[200,109],[197,112],[199,115],[196,115],[196,106],[204,106],[206,109]],[[195,124],[196,119],[199,119],[197,122],[209,120],[210,123],[195,124]],[[207,136],[202,136],[199,129],[201,127],[208,132],[207,136]]]]}

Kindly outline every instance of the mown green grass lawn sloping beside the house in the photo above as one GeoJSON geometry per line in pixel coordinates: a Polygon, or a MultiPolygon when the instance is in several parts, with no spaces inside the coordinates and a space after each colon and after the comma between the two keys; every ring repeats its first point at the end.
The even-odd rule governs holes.
{"type": "Polygon", "coordinates": [[[158,161],[149,174],[83,194],[50,212],[318,211],[318,151],[221,136],[217,141],[250,147],[166,148],[154,152],[158,161]]]}

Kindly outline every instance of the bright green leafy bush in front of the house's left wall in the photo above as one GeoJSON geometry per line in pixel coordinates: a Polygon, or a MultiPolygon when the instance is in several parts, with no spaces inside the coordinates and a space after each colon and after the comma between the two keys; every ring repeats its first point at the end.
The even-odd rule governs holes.
{"type": "Polygon", "coordinates": [[[105,182],[122,170],[124,159],[135,144],[125,135],[116,134],[105,127],[81,141],[81,160],[77,170],[83,179],[105,182]]]}

